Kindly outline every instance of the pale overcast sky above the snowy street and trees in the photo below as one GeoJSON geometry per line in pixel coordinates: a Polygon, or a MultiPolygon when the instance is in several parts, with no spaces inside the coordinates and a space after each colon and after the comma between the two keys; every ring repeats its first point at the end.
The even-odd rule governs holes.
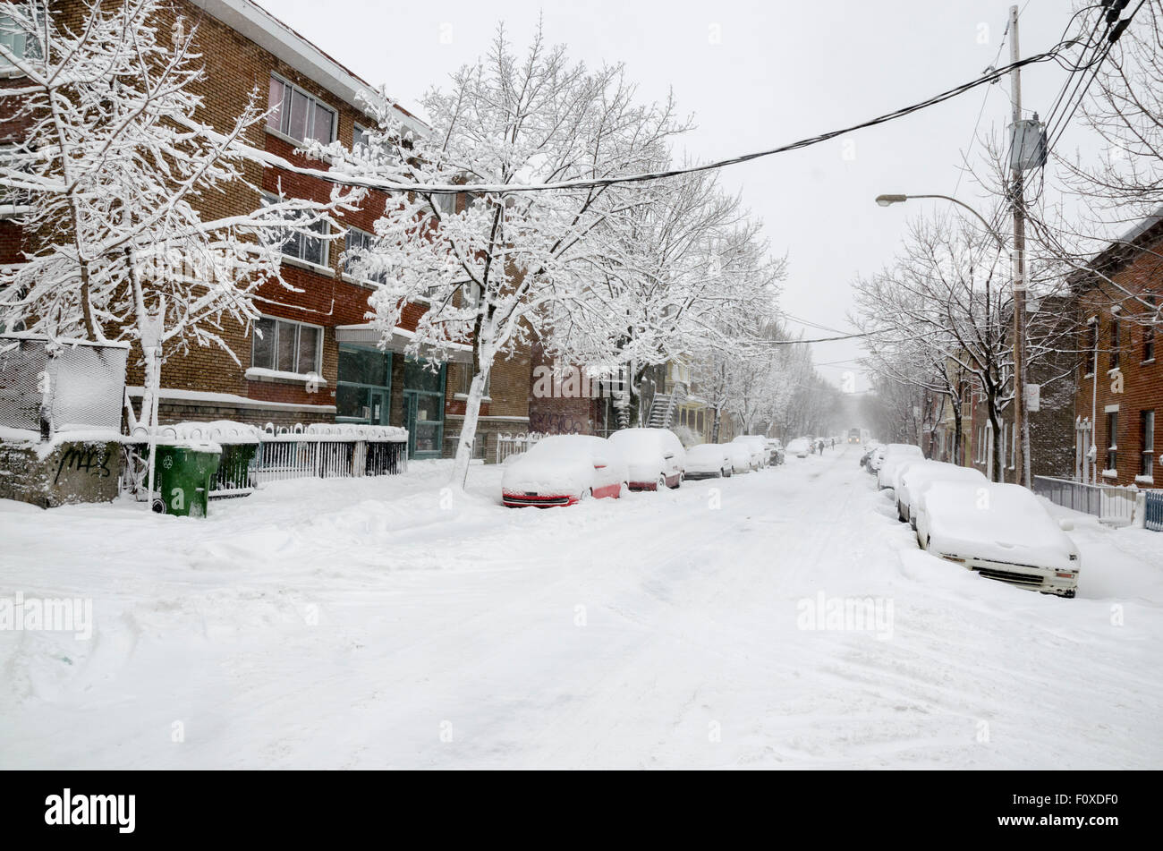
{"type": "MultiPolygon", "coordinates": [[[[498,22],[523,47],[540,13],[547,40],[566,44],[572,58],[623,62],[642,100],[659,100],[673,90],[680,112],[698,123],[686,138],[686,152],[707,160],[847,127],[978,77],[997,59],[1011,3],[441,0],[405,7],[328,0],[326,15],[319,0],[262,5],[421,115],[423,93],[445,86],[451,71],[485,52],[498,22]]],[[[1057,43],[1070,12],[1068,0],[1025,0],[1022,56],[1057,43]]],[[[1007,43],[997,64],[1008,62],[1008,51],[1007,43]]],[[[1044,113],[1065,73],[1054,63],[1023,70],[1023,107],[1044,113]]],[[[773,251],[787,253],[782,300],[787,314],[848,330],[852,278],[892,258],[907,219],[922,212],[921,205],[942,203],[882,209],[873,203],[876,195],[956,191],[984,208],[979,187],[968,178],[958,185],[958,165],[979,114],[980,130],[1004,128],[1008,81],[887,126],[721,173],[725,186],[742,189],[763,219],[773,251]]],[[[1089,134],[1075,128],[1059,150],[1078,145],[1091,143],[1089,134]]],[[[973,151],[979,153],[979,146],[973,151]]],[[[832,336],[789,324],[808,337],[832,336]]],[[[858,344],[818,344],[814,352],[821,372],[836,385],[851,371],[856,389],[866,386],[852,363],[861,355],[858,344]]]]}

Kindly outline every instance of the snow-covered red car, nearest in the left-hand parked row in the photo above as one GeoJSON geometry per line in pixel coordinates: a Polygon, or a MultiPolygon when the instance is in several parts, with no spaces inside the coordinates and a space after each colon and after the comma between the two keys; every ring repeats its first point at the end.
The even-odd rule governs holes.
{"type": "Polygon", "coordinates": [[[506,465],[501,502],[511,508],[548,508],[591,496],[618,499],[628,482],[626,462],[605,437],[554,435],[506,465]]]}

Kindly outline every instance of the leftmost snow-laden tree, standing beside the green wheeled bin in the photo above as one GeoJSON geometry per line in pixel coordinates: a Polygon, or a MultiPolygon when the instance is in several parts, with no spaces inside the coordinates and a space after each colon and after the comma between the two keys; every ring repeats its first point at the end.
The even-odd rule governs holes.
{"type": "Polygon", "coordinates": [[[243,142],[262,94],[230,127],[200,121],[198,28],[158,0],[5,2],[0,21],[0,59],[17,74],[0,109],[24,128],[0,153],[0,202],[15,205],[27,244],[0,270],[0,320],[140,343],[149,423],[164,357],[191,344],[234,357],[222,324],[258,316],[252,296],[281,281],[285,239],[319,237],[313,226],[359,193],[261,206],[243,142]],[[207,196],[237,184],[255,212],[204,217],[207,196]]]}

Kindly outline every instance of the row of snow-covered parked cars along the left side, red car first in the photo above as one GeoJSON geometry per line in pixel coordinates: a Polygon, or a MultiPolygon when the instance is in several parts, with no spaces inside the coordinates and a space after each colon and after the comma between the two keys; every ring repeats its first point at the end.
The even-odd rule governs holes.
{"type": "Polygon", "coordinates": [[[756,435],[684,449],[669,429],[622,429],[608,438],[555,435],[506,462],[501,502],[572,506],[622,491],[677,488],[683,479],[736,475],[783,463],[783,446],[756,435]]]}

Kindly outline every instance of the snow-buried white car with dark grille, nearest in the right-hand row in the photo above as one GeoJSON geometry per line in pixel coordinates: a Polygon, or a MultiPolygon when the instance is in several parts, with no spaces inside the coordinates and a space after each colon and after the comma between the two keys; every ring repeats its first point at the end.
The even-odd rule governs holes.
{"type": "Polygon", "coordinates": [[[1073,596],[1078,548],[1021,485],[934,481],[918,532],[934,556],[987,579],[1073,596]]]}

